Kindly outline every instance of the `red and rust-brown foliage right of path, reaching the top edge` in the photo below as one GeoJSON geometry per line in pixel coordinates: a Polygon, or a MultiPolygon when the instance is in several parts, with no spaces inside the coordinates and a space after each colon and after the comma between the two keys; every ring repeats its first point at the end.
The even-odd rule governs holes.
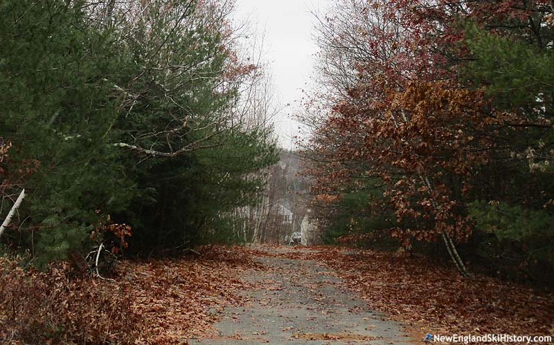
{"type": "MultiPolygon", "coordinates": [[[[489,184],[483,171],[494,171],[502,162],[510,165],[507,148],[515,142],[512,136],[521,133],[517,127],[529,119],[498,111],[483,90],[461,78],[469,53],[459,44],[464,30],[458,20],[512,30],[504,28],[507,19],[522,20],[526,27],[529,18],[522,15],[527,10],[512,0],[476,1],[464,10],[451,1],[375,3],[380,5],[373,10],[344,3],[330,13],[336,24],[321,30],[325,56],[346,59],[357,73],[322,70],[321,80],[332,82],[328,95],[314,97],[332,108],[328,118],[314,124],[306,150],[313,203],[331,209],[323,204],[334,200],[322,195],[348,193],[358,187],[352,180],[371,176],[375,184],[386,185],[379,206],[392,209],[400,229],[415,229],[412,238],[427,241],[446,232],[467,239],[473,224],[465,205],[474,201],[479,185],[489,184]],[[388,25],[399,33],[391,35],[388,25]],[[340,175],[346,167],[348,174],[340,175]]],[[[541,17],[551,11],[533,1],[528,6],[541,17]]],[[[335,214],[328,214],[333,221],[335,214]]]]}

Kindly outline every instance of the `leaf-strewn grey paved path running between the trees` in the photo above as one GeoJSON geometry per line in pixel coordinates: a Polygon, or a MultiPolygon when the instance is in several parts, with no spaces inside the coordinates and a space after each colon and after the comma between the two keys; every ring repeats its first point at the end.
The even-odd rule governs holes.
{"type": "Polygon", "coordinates": [[[258,261],[268,269],[251,270],[242,277],[258,286],[243,292],[247,305],[220,311],[221,319],[214,325],[217,335],[189,344],[409,344],[399,323],[368,310],[321,263],[283,257],[258,261]]]}

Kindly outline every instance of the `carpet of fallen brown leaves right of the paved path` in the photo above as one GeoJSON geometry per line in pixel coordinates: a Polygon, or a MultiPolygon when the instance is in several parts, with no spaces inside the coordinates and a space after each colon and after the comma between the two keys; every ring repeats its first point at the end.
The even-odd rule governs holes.
{"type": "Polygon", "coordinates": [[[370,308],[390,313],[422,334],[551,333],[553,295],[481,275],[462,278],[422,257],[320,250],[316,256],[337,270],[370,308]]]}

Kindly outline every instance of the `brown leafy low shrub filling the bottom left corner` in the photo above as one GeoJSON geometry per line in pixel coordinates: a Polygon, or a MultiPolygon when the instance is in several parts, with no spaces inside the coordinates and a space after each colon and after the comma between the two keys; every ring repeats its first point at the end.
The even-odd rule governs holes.
{"type": "Polygon", "coordinates": [[[68,263],[46,272],[0,258],[1,344],[132,344],[140,330],[125,288],[80,276],[68,263]]]}

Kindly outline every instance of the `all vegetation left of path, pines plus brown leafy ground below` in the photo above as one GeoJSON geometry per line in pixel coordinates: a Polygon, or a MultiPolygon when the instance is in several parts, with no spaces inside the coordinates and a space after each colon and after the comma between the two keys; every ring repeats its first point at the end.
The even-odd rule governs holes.
{"type": "Polygon", "coordinates": [[[278,160],[267,68],[232,10],[1,1],[2,221],[26,191],[0,230],[2,344],[170,344],[231,300],[235,254],[197,246],[246,241],[233,211],[278,160]]]}

